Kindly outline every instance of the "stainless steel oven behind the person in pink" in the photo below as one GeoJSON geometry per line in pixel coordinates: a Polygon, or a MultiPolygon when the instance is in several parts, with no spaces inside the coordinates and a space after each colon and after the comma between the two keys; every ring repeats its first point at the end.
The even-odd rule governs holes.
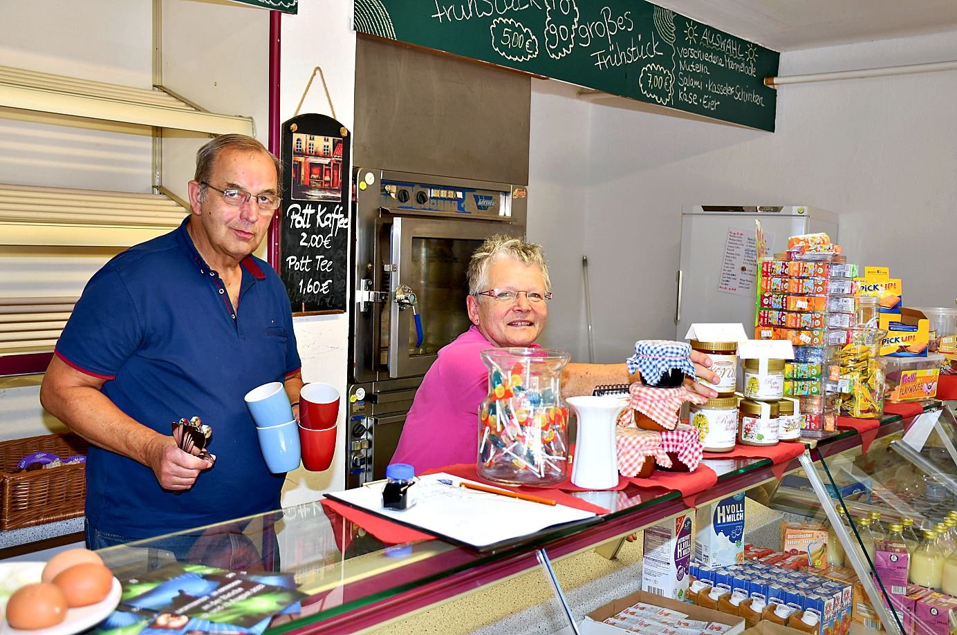
{"type": "Polygon", "coordinates": [[[524,186],[357,168],[346,487],[383,478],[415,389],[469,327],[466,269],[523,236],[524,186]]]}

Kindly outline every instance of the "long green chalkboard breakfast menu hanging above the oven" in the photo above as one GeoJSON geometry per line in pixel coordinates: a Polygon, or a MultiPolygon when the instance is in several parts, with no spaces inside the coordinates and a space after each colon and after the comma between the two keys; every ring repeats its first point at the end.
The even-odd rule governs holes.
{"type": "Polygon", "coordinates": [[[779,54],[643,0],[355,0],[354,13],[362,33],[774,130],[764,78],[779,54]]]}

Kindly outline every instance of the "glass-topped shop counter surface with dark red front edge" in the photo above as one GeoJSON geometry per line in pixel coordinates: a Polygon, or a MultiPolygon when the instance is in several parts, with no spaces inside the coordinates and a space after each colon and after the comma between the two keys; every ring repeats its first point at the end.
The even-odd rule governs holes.
{"type": "MultiPolygon", "coordinates": [[[[928,402],[924,410],[938,407],[939,403],[928,402]]],[[[910,420],[887,415],[872,436],[901,433],[910,420]]],[[[813,461],[821,461],[861,447],[862,440],[856,430],[842,429],[829,438],[808,441],[805,451],[813,461]]],[[[267,635],[356,632],[532,570],[540,566],[541,553],[552,560],[565,558],[632,534],[691,505],[779,480],[784,472],[800,469],[798,459],[782,465],[768,459],[704,459],[702,463],[718,474],[718,482],[697,499],[633,484],[621,491],[575,493],[611,511],[523,536],[487,552],[440,539],[391,544],[316,501],[189,532],[196,542],[187,560],[292,574],[306,598],[299,612],[276,616],[267,635]]],[[[123,580],[174,560],[168,552],[153,548],[153,543],[130,543],[100,554],[123,580]]]]}

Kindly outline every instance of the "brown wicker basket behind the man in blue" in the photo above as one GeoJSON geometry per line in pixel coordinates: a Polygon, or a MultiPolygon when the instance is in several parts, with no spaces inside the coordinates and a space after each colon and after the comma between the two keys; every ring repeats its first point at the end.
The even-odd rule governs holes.
{"type": "Polygon", "coordinates": [[[76,434],[44,434],[0,441],[0,530],[31,527],[83,515],[86,466],[82,463],[37,471],[15,472],[31,452],[53,452],[63,458],[89,449],[76,434]]]}

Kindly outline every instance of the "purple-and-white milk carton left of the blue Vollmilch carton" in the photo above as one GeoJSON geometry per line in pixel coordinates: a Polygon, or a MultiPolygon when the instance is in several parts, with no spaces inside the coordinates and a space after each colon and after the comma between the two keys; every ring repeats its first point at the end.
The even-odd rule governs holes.
{"type": "Polygon", "coordinates": [[[679,515],[645,529],[641,590],[684,601],[691,564],[691,516],[679,515]]]}

